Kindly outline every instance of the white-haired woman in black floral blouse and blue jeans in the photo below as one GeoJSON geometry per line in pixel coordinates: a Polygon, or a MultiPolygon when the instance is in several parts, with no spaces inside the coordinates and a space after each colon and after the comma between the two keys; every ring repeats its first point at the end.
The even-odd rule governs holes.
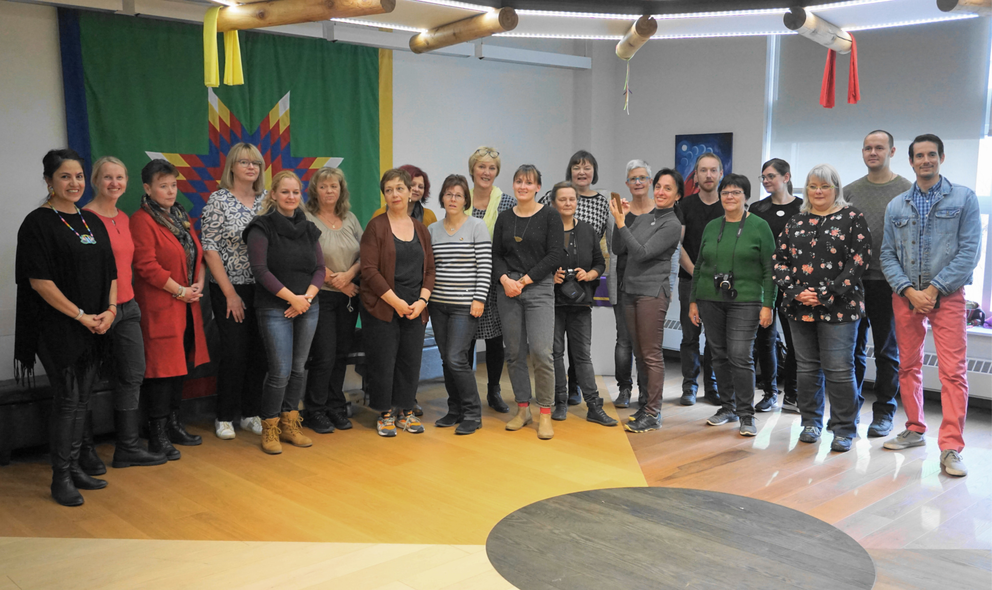
{"type": "Polygon", "coordinates": [[[865,315],[861,275],[870,258],[868,224],[844,200],[837,170],[813,166],[803,207],[786,224],[773,256],[796,345],[804,443],[819,440],[824,380],[830,449],[849,450],[857,435],[863,398],[854,381],[854,340],[865,315]]]}

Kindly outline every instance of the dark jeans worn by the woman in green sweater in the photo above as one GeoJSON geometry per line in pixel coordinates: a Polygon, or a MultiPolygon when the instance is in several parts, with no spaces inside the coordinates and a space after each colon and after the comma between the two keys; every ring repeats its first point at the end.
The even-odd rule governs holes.
{"type": "Polygon", "coordinates": [[[720,406],[738,416],[754,416],[754,338],[758,333],[761,303],[698,301],[706,326],[706,343],[712,346],[720,406]]]}

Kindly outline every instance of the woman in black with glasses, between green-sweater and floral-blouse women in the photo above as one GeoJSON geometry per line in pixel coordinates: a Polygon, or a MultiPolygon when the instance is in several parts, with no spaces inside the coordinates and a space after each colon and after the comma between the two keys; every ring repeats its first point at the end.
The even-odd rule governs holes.
{"type": "MultiPolygon", "coordinates": [[[[793,195],[792,170],[789,162],[773,157],[762,166],[761,183],[768,191],[768,197],[758,201],[748,209],[768,223],[772,235],[778,240],[779,235],[786,229],[786,223],[800,212],[803,199],[793,195]]],[[[773,321],[767,328],[758,328],[755,338],[755,354],[761,366],[761,376],[765,381],[765,397],[755,404],[758,412],[769,412],[775,408],[779,399],[779,375],[785,377],[782,395],[782,409],[799,412],[796,405],[796,350],[793,346],[793,333],[789,329],[789,318],[786,317],[782,306],[783,292],[775,300],[779,322],[782,324],[782,334],[786,341],[786,362],[779,365],[778,342],[779,331],[773,321]]]]}

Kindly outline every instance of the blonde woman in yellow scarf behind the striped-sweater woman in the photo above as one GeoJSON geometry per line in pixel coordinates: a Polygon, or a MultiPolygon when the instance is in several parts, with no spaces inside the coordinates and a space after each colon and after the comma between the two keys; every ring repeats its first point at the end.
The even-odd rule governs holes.
{"type": "MultiPolygon", "coordinates": [[[[486,224],[489,237],[493,235],[496,218],[500,213],[517,204],[513,196],[505,194],[494,183],[499,176],[501,160],[499,151],[483,146],[468,156],[468,174],[472,181],[472,189],[468,198],[472,203],[471,216],[481,219],[486,224]]],[[[488,378],[486,402],[497,412],[506,414],[510,408],[503,401],[499,381],[503,376],[504,349],[503,328],[500,324],[499,307],[496,305],[496,293],[499,285],[492,281],[489,285],[489,296],[485,308],[479,316],[475,329],[475,338],[468,348],[469,356],[475,357],[475,341],[486,342],[486,376],[488,378]]]]}

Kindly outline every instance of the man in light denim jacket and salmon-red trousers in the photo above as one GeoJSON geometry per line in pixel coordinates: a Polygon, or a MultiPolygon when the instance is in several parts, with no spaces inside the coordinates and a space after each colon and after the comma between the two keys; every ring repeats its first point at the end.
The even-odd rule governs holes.
{"type": "Polygon", "coordinates": [[[923,411],[927,319],[942,384],[940,464],[948,475],[962,476],[968,473],[960,455],[968,406],[963,287],[971,283],[971,271],[978,264],[982,225],[974,191],[940,175],[943,156],[939,138],[917,137],[910,144],[917,181],[885,211],[880,259],[893,290],[899,386],[907,421],[906,430],[884,446],[898,450],[927,443],[923,411]]]}

